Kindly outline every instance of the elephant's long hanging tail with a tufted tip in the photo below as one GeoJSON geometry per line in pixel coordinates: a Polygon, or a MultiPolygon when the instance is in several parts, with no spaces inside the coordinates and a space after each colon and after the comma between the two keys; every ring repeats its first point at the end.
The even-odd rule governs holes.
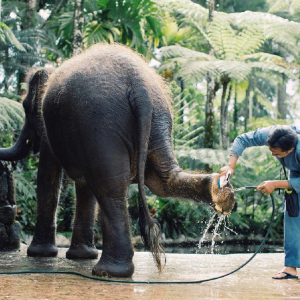
{"type": "MultiPolygon", "coordinates": [[[[136,74],[133,74],[133,77],[135,77],[134,75],[136,74]]],[[[142,84],[135,84],[134,86],[135,88],[130,91],[129,99],[138,121],[139,225],[144,244],[151,251],[157,268],[161,272],[164,267],[161,262],[164,251],[159,244],[160,225],[156,219],[150,216],[144,188],[153,107],[147,88],[143,87],[142,84]]]]}

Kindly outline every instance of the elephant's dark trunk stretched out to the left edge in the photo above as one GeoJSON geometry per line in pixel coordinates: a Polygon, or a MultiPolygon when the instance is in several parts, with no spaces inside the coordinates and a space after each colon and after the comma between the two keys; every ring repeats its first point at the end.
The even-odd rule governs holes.
{"type": "Polygon", "coordinates": [[[31,150],[30,131],[25,123],[16,144],[10,148],[0,148],[0,160],[15,161],[27,157],[31,150]]]}

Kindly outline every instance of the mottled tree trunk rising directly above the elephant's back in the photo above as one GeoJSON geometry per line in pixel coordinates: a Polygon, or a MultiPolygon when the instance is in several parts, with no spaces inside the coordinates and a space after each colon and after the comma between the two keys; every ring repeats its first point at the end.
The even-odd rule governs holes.
{"type": "Polygon", "coordinates": [[[73,23],[73,55],[82,51],[82,33],[83,33],[83,2],[84,0],[75,0],[74,23],[73,23]]]}

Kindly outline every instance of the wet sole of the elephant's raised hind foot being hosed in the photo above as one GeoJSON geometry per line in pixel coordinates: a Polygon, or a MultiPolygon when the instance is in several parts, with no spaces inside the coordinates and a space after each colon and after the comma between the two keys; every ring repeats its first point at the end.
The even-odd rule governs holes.
{"type": "Polygon", "coordinates": [[[228,182],[224,187],[218,187],[218,176],[215,176],[211,187],[212,207],[223,215],[229,215],[235,205],[234,190],[228,182]]]}

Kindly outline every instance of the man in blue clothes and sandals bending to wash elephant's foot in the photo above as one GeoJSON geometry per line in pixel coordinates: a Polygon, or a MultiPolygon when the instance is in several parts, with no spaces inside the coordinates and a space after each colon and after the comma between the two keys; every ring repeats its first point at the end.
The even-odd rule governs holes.
{"type": "MultiPolygon", "coordinates": [[[[228,172],[232,175],[239,156],[245,148],[268,146],[272,155],[290,170],[288,180],[268,180],[262,182],[256,191],[271,194],[277,188],[294,189],[300,199],[300,129],[294,125],[276,125],[259,128],[239,135],[233,142],[228,165],[221,168],[220,176],[228,172]]],[[[231,176],[230,175],[230,176],[231,176]]],[[[297,279],[300,268],[300,215],[289,217],[284,209],[284,252],[285,265],[273,279],[297,279]]]]}

